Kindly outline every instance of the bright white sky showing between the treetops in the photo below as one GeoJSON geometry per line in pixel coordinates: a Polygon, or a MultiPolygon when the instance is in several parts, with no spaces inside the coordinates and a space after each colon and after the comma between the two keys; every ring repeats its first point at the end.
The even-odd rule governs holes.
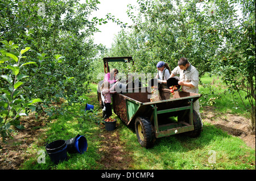
{"type": "MultiPolygon", "coordinates": [[[[85,0],[84,0],[85,1],[85,0]]],[[[128,17],[126,11],[128,10],[127,5],[137,6],[137,0],[100,0],[100,4],[97,5],[98,10],[95,11],[91,17],[96,16],[97,18],[106,18],[106,14],[111,13],[115,19],[121,20],[127,25],[133,24],[133,21],[128,17]]],[[[121,27],[112,20],[108,20],[108,23],[97,26],[101,32],[94,33],[94,43],[105,45],[106,48],[110,48],[113,43],[114,35],[121,30],[121,27]]]]}

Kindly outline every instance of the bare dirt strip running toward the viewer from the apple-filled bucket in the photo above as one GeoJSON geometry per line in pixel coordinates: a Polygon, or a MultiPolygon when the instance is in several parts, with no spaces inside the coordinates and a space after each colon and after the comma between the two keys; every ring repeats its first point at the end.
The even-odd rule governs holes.
{"type": "MultiPolygon", "coordinates": [[[[117,124],[118,127],[118,124],[117,124]]],[[[130,153],[124,150],[125,143],[119,138],[118,130],[105,131],[105,127],[101,127],[100,134],[101,147],[98,150],[102,157],[100,164],[104,166],[102,169],[106,170],[126,170],[130,168],[129,163],[132,161],[130,153]]]]}

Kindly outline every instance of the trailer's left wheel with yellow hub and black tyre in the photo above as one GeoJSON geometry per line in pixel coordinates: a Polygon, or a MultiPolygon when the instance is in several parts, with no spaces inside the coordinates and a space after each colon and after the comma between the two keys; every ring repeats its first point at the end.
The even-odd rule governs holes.
{"type": "Polygon", "coordinates": [[[135,132],[142,147],[151,148],[154,146],[155,135],[150,121],[143,117],[137,117],[135,120],[135,132]]]}

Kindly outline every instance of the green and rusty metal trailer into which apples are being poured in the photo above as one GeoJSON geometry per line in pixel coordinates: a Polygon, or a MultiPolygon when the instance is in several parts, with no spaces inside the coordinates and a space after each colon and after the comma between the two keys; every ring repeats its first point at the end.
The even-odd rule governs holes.
{"type": "Polygon", "coordinates": [[[185,133],[197,137],[202,130],[201,120],[193,110],[200,94],[159,89],[159,100],[152,101],[148,87],[139,87],[122,94],[113,94],[113,110],[127,126],[135,127],[141,146],[154,146],[156,138],[185,133]]]}

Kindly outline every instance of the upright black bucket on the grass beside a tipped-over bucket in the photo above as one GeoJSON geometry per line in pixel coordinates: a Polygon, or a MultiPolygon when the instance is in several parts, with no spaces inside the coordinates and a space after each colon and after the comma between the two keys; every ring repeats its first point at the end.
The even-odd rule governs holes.
{"type": "Polygon", "coordinates": [[[67,144],[65,140],[53,141],[46,145],[46,151],[55,164],[67,159],[67,144]]]}

